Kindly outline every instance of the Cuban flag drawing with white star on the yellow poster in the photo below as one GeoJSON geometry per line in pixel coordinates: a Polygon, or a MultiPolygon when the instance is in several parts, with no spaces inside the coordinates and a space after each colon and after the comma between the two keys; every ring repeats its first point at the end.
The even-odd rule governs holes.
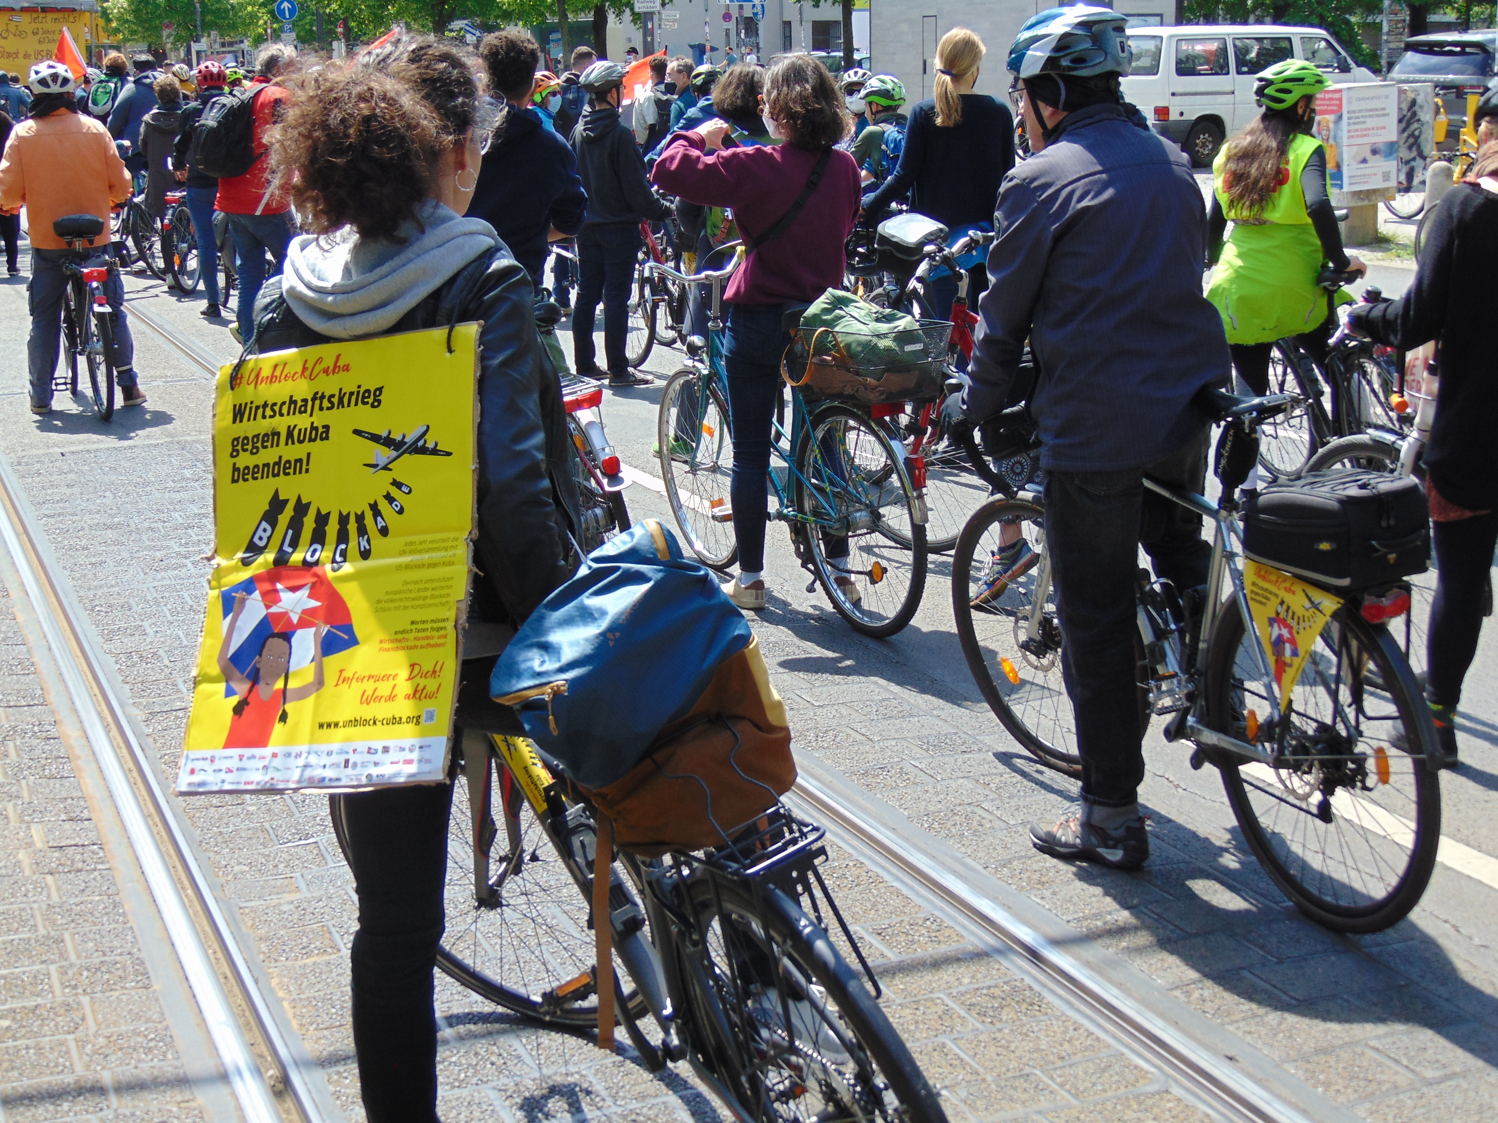
{"type": "MultiPolygon", "coordinates": [[[[223,627],[228,629],[234,615],[234,594],[244,593],[244,611],[234,629],[229,662],[249,677],[250,665],[261,651],[261,644],[274,632],[291,633],[291,669],[300,671],[312,665],[312,633],[318,624],[328,624],[322,636],[322,657],[336,656],[358,647],[354,633],[354,618],[349,606],[333,587],[324,566],[277,566],[229,585],[219,593],[223,611],[223,627]],[[337,630],[333,630],[337,629],[337,630]],[[343,635],[339,635],[339,633],[343,635]]],[[[225,686],[225,698],[234,696],[234,687],[225,686]]]]}

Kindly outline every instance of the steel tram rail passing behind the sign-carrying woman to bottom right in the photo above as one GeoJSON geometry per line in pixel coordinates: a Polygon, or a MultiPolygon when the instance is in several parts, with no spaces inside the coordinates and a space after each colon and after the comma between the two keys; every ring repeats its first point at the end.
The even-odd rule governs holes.
{"type": "MultiPolygon", "coordinates": [[[[210,377],[217,376],[219,361],[198,344],[174,335],[154,314],[138,308],[132,308],[132,313],[199,370],[210,377]]],[[[650,487],[653,478],[649,473],[632,469],[626,472],[632,482],[650,487]]],[[[1231,1035],[1203,1024],[1204,1020],[1186,1027],[1174,1012],[1150,1009],[1126,984],[1109,978],[1095,963],[1061,946],[1056,933],[1041,931],[1026,922],[939,855],[911,846],[897,830],[891,831],[891,824],[882,821],[876,809],[840,791],[834,777],[822,776],[816,768],[803,768],[794,798],[834,836],[842,836],[852,849],[861,850],[860,856],[872,859],[896,885],[924,898],[957,927],[984,937],[989,946],[998,945],[1013,952],[1043,991],[1086,1015],[1107,1036],[1218,1119],[1233,1123],[1330,1123],[1353,1119],[1345,1110],[1288,1078],[1288,1074],[1272,1066],[1267,1059],[1258,1057],[1257,1069],[1252,1063],[1245,1065],[1243,1054],[1251,1050],[1231,1035]],[[1233,1051],[1222,1048],[1224,1044],[1233,1051]],[[1270,1066],[1273,1071],[1269,1071],[1270,1066]],[[1315,1102],[1305,1102],[1305,1093],[1315,1102]]]]}

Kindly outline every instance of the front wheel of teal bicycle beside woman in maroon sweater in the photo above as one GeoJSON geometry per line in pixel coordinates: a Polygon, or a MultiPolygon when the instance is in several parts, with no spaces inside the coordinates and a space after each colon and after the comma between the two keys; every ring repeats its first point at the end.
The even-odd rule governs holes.
{"type": "Polygon", "coordinates": [[[728,403],[719,388],[694,367],[682,367],[661,391],[656,413],[656,455],[667,505],[677,530],[697,559],[724,570],[739,560],[731,518],[715,512],[731,508],[734,446],[728,403]]]}

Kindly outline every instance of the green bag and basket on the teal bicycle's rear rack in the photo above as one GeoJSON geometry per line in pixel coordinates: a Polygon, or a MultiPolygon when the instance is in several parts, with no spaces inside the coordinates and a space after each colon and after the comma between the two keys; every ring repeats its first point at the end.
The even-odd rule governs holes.
{"type": "Polygon", "coordinates": [[[935,398],[950,337],[947,320],[918,320],[828,289],[801,313],[780,365],[785,380],[810,398],[935,398]]]}

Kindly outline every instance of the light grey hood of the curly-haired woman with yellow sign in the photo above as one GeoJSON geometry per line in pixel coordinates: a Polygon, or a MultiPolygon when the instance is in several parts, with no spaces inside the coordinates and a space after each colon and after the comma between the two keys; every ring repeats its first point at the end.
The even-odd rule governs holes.
{"type": "Polygon", "coordinates": [[[364,240],[351,226],[321,238],[292,238],[282,293],[297,319],[336,340],[377,335],[470,261],[500,246],[487,222],[458,217],[434,199],[416,217],[400,228],[404,241],[364,240]]]}

